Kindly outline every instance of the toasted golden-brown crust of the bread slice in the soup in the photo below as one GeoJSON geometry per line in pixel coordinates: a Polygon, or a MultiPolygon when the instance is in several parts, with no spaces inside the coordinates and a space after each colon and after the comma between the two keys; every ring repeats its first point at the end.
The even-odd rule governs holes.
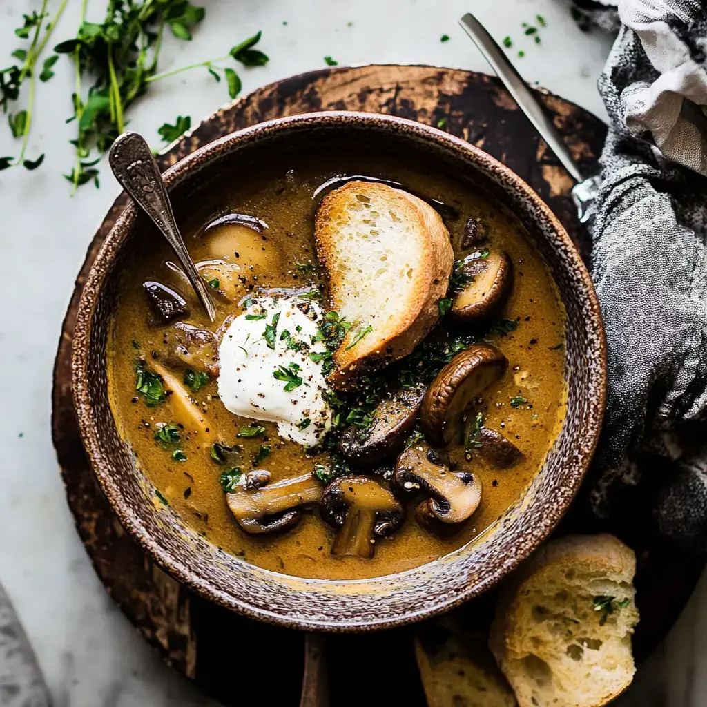
{"type": "Polygon", "coordinates": [[[349,349],[356,334],[352,329],[334,352],[337,367],[329,381],[340,390],[354,387],[358,376],[366,371],[407,356],[426,337],[439,318],[438,301],[447,293],[454,265],[449,232],[429,204],[380,182],[349,182],[327,194],[315,218],[317,257],[327,272],[333,310],[341,309],[344,285],[344,274],[337,267],[336,243],[342,224],[354,218],[351,207],[358,205],[357,194],[383,201],[402,214],[416,233],[420,267],[407,293],[407,308],[394,325],[384,326],[380,331],[374,329],[373,336],[364,337],[349,349]]]}

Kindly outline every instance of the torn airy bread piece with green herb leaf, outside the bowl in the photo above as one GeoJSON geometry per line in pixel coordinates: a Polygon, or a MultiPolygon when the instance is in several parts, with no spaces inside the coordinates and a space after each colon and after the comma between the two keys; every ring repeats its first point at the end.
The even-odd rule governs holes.
{"type": "Polygon", "coordinates": [[[600,707],[631,684],[635,573],[607,534],[551,541],[520,569],[489,638],[520,707],[600,707]]]}

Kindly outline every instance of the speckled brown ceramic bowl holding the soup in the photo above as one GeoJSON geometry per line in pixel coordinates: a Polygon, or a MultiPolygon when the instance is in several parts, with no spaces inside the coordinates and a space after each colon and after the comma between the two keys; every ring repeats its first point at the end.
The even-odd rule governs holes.
{"type": "Polygon", "coordinates": [[[523,223],[548,264],[567,312],[567,416],[525,496],[479,539],[410,571],[368,580],[300,579],[252,566],[156,508],[110,411],[106,344],[117,282],[141,234],[157,237],[134,205],[107,236],[83,288],[74,334],[73,390],[93,470],[125,529],[177,580],[255,619],[300,629],[363,631],[431,617],[491,588],[525,559],[567,510],[602,425],[607,370],[599,304],[578,252],[550,209],[520,177],[478,148],[437,129],[387,115],[322,112],[271,120],[219,139],[164,174],[179,206],[220,170],[247,168],[274,151],[356,144],[404,152],[472,180],[523,223]]]}

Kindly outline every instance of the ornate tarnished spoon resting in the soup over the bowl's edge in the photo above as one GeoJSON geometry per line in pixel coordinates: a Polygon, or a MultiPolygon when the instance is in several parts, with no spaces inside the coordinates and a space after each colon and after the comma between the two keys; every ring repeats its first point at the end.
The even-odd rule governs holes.
{"type": "Polygon", "coordinates": [[[194,265],[182,234],[177,228],[165,182],[160,175],[160,168],[144,137],[135,132],[124,132],[119,135],[110,148],[108,162],[123,189],[130,194],[168,240],[201,304],[204,305],[209,319],[212,322],[216,321],[214,300],[211,299],[206,283],[199,275],[197,266],[194,265]]]}

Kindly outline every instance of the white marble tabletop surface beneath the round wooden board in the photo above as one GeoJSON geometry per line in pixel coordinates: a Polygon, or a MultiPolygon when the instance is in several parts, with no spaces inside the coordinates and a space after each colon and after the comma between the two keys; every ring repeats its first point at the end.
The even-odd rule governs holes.
{"type": "MultiPolygon", "coordinates": [[[[37,0],[0,0],[0,64],[18,43],[13,29],[37,0]]],[[[49,0],[56,8],[59,0],[49,0]]],[[[69,0],[57,41],[73,36],[79,0],[69,0]]],[[[89,0],[100,18],[105,0],[89,0]]],[[[604,115],[595,80],[609,40],[583,35],[562,0],[203,0],[207,16],[194,41],[169,40],[163,69],[225,53],[263,30],[271,62],[243,71],[244,91],[323,66],[393,62],[437,64],[487,71],[457,27],[465,11],[477,13],[496,37],[520,40],[522,21],[547,18],[542,45],[522,42],[518,62],[529,81],[604,115]],[[284,21],[287,25],[284,25],[284,21]],[[348,23],[353,23],[349,26],[348,23]],[[450,35],[440,42],[440,35],[450,35]]],[[[519,45],[520,46],[520,45],[519,45]]],[[[29,156],[44,151],[33,173],[0,173],[0,580],[16,604],[40,658],[57,707],[158,707],[209,701],[165,667],[115,608],[95,577],[64,501],[49,436],[49,387],[64,309],[95,226],[118,192],[102,166],[102,187],[83,187],[69,198],[62,172],[71,168],[73,137],[68,62],[37,92],[29,156]],[[12,267],[10,267],[12,264],[12,267]]],[[[206,72],[156,86],[130,112],[131,127],[158,143],[156,129],[177,114],[194,122],[226,99],[206,72]]],[[[17,147],[0,126],[0,156],[17,147]]],[[[707,695],[707,584],[694,597],[660,654],[639,675],[622,704],[700,707],[707,695]],[[643,689],[641,689],[643,688],[643,689]]]]}

